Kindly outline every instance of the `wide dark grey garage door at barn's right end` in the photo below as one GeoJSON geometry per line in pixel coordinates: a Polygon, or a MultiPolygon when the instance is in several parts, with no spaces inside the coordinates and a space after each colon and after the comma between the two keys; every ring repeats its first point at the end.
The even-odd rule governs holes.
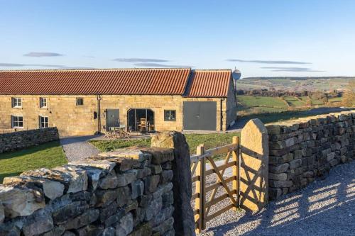
{"type": "Polygon", "coordinates": [[[216,130],[215,101],[184,101],[184,130],[216,130]]]}

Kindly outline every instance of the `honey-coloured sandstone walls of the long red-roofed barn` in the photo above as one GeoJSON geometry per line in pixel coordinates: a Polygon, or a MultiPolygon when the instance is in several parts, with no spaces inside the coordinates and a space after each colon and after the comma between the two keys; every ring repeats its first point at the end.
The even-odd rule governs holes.
{"type": "MultiPolygon", "coordinates": [[[[235,103],[222,101],[222,130],[236,119],[233,111],[235,103]],[[228,110],[228,111],[227,111],[228,110]]],[[[11,116],[23,116],[23,130],[39,128],[39,117],[48,117],[49,126],[57,127],[60,136],[93,135],[99,130],[98,118],[101,116],[101,128],[106,125],[106,109],[119,109],[119,122],[127,125],[127,112],[131,108],[150,108],[154,113],[155,130],[182,130],[183,101],[216,101],[217,130],[221,130],[221,99],[217,98],[185,98],[182,96],[144,96],[144,95],[102,95],[100,112],[98,111],[97,96],[87,95],[16,95],[0,96],[0,129],[11,129],[11,116]],[[22,99],[21,108],[11,107],[11,97],[22,99]],[[48,105],[40,108],[40,97],[46,98],[48,105]],[[84,99],[84,105],[76,106],[76,99],[84,99]],[[176,120],[165,121],[164,110],[175,110],[176,120]]],[[[20,129],[21,130],[21,129],[20,129]]]]}

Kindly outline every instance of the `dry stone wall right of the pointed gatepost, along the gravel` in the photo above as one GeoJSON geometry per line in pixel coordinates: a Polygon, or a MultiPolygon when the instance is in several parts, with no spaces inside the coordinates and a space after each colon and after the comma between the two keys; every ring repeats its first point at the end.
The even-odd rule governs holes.
{"type": "Polygon", "coordinates": [[[269,195],[296,191],[329,169],[355,159],[355,111],[266,125],[269,195]]]}

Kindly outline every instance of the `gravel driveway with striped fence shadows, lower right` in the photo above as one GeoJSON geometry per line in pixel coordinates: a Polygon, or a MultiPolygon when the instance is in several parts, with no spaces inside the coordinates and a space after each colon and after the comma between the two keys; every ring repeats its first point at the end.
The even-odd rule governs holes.
{"type": "Polygon", "coordinates": [[[260,213],[229,210],[209,221],[200,235],[355,235],[355,161],[272,201],[260,213]]]}

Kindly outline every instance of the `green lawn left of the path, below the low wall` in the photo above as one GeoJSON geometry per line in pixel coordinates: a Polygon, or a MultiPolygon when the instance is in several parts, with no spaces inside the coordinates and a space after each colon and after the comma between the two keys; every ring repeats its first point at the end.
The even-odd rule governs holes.
{"type": "Polygon", "coordinates": [[[6,176],[16,176],[30,169],[53,168],[66,164],[59,141],[0,154],[0,183],[6,176]]]}

